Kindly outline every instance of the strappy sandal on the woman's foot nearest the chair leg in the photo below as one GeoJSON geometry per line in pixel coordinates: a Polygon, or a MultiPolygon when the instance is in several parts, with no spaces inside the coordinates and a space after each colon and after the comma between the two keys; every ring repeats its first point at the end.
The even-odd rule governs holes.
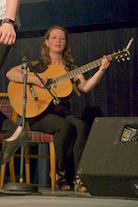
{"type": "Polygon", "coordinates": [[[57,174],[60,176],[60,178],[56,180],[56,188],[59,190],[70,190],[70,186],[67,183],[65,175],[62,175],[59,172],[57,172],[57,174]],[[67,186],[69,186],[69,188],[66,188],[67,186]]]}

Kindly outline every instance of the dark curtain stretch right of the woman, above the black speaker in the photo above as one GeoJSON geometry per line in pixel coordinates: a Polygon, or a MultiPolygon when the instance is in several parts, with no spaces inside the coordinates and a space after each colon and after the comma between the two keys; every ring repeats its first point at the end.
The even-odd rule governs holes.
{"type": "MultiPolygon", "coordinates": [[[[134,38],[130,47],[131,60],[120,63],[111,61],[99,84],[88,94],[83,93],[81,100],[77,98],[75,105],[79,107],[73,107],[79,115],[87,112],[89,116],[95,107],[104,116],[137,116],[137,28],[93,31],[70,36],[72,54],[78,65],[122,50],[134,38]]],[[[95,71],[96,69],[87,72],[85,77],[91,77],[95,71]]]]}

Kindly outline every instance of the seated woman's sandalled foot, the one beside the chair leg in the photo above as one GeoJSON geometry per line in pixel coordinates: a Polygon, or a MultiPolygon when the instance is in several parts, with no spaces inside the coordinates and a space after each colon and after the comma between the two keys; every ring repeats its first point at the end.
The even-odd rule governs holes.
{"type": "Polygon", "coordinates": [[[56,173],[56,187],[60,190],[70,190],[70,186],[65,177],[65,172],[56,173]]]}

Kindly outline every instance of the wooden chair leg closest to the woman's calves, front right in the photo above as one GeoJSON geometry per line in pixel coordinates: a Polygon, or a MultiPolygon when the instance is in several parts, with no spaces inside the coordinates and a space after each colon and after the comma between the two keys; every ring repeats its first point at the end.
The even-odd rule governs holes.
{"type": "Polygon", "coordinates": [[[51,189],[56,190],[56,156],[55,146],[50,142],[50,168],[51,168],[51,189]]]}

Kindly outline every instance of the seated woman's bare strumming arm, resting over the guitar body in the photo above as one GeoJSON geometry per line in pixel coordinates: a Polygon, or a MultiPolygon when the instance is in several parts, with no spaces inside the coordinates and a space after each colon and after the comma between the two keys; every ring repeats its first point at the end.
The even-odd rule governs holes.
{"type": "MultiPolygon", "coordinates": [[[[13,82],[23,83],[24,71],[23,69],[21,69],[21,67],[21,65],[13,67],[6,73],[6,77],[13,82]]],[[[29,68],[27,69],[27,72],[30,72],[29,68]]],[[[45,83],[47,82],[47,77],[40,77],[43,79],[45,83]]],[[[39,78],[37,78],[34,75],[27,75],[27,83],[32,83],[37,86],[44,87],[39,78]]]]}

